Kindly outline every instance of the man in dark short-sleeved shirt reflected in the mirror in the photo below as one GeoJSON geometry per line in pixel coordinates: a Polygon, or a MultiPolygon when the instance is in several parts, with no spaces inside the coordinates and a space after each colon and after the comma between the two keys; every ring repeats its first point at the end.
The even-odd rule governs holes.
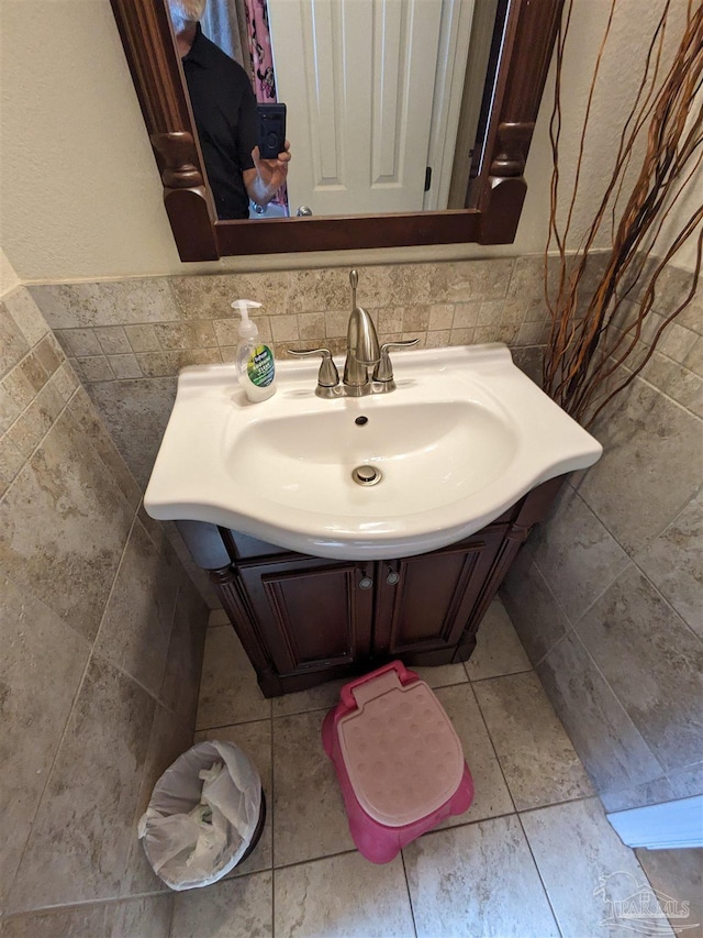
{"type": "Polygon", "coordinates": [[[289,143],[278,159],[259,158],[252,82],[203,35],[205,0],[168,0],[168,7],[217,218],[248,218],[249,199],[266,206],[286,181],[289,143]]]}

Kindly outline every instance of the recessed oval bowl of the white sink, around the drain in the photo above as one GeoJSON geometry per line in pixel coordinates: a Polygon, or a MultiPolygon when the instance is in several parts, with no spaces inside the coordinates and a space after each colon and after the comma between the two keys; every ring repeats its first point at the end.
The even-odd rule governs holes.
{"type": "Polygon", "coordinates": [[[432,511],[483,488],[515,453],[507,422],[472,401],[378,404],[380,398],[367,398],[366,406],[357,399],[353,408],[321,406],[252,423],[230,444],[232,479],[288,508],[299,508],[309,493],[317,514],[364,512],[382,521],[432,511]],[[357,423],[359,415],[368,422],[357,423]],[[382,487],[360,490],[352,476],[357,466],[380,471],[371,484],[382,487]]]}

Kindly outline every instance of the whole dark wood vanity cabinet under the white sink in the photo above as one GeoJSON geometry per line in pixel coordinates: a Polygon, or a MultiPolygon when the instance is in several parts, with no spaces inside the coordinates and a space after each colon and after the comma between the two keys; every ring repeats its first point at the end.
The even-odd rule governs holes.
{"type": "Polygon", "coordinates": [[[400,658],[466,661],[479,624],[561,478],[476,534],[417,556],[325,560],[220,529],[232,563],[211,571],[266,696],[352,676],[400,658]]]}

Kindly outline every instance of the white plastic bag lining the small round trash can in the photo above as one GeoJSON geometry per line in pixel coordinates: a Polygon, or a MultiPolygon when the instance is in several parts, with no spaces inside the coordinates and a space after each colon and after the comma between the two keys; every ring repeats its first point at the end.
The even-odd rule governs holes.
{"type": "Polygon", "coordinates": [[[261,810],[258,772],[232,742],[199,742],[164,772],[137,834],[172,890],[207,886],[239,862],[261,810]]]}

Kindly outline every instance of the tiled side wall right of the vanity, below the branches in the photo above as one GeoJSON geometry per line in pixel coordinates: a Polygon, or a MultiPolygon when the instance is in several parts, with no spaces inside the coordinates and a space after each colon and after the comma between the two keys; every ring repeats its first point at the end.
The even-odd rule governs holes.
{"type": "MultiPolygon", "coordinates": [[[[691,275],[670,268],[643,333],[691,275]]],[[[703,297],[593,428],[503,587],[505,606],[609,810],[703,793],[703,297]]]]}

